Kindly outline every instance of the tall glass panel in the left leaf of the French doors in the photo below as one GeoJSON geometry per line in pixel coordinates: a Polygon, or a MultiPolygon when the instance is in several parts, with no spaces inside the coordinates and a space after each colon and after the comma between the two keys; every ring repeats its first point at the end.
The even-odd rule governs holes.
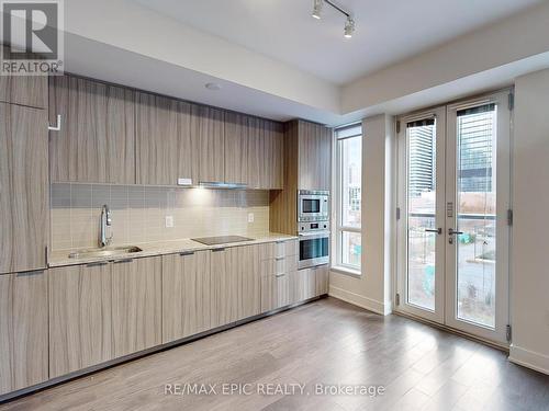
{"type": "Polygon", "coordinates": [[[406,125],[407,302],[435,310],[436,128],[435,119],[406,125]]]}

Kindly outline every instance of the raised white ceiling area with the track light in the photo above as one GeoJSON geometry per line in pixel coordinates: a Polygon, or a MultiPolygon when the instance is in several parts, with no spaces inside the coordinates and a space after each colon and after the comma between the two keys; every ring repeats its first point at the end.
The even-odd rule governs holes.
{"type": "MultiPolygon", "coordinates": [[[[194,28],[344,84],[546,0],[340,0],[357,31],[312,0],[134,0],[194,28]]],[[[206,50],[204,50],[208,53],[206,50]]]]}

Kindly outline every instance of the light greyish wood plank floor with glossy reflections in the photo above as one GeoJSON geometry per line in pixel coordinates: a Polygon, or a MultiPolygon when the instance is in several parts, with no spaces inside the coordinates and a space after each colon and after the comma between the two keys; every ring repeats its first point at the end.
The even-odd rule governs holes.
{"type": "MultiPolygon", "coordinates": [[[[257,387],[257,386],[256,386],[257,387]]],[[[549,410],[504,353],[327,298],[0,406],[1,410],[549,410]],[[310,395],[167,396],[166,384],[306,384],[310,395]],[[380,397],[315,384],[382,385],[380,397]]]]}

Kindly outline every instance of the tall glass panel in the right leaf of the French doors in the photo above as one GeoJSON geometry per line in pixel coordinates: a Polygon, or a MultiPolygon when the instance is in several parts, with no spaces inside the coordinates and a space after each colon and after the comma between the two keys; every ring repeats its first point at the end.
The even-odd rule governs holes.
{"type": "Polygon", "coordinates": [[[494,328],[496,106],[457,115],[457,316],[494,328]]]}

